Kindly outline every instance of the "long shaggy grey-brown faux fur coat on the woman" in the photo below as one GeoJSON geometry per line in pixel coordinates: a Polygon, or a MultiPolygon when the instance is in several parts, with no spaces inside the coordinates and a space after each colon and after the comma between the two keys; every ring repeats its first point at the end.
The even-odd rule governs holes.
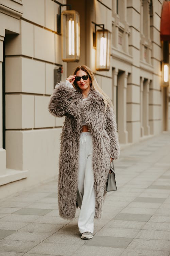
{"type": "MultiPolygon", "coordinates": [[[[102,95],[90,90],[82,101],[81,91],[56,85],[49,102],[49,112],[57,117],[65,116],[61,134],[61,149],[58,177],[58,206],[60,216],[73,219],[77,208],[79,139],[82,131],[82,118],[88,125],[93,142],[93,171],[95,178],[96,213],[100,218],[110,157],[118,159],[119,143],[117,125],[113,109],[105,104],[102,95]]],[[[88,207],[88,205],[87,205],[88,207]]]]}

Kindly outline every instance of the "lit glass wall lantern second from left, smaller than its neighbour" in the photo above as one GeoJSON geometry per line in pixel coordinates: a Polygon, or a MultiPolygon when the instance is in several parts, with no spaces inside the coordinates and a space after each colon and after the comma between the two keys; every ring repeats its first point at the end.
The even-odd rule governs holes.
{"type": "Polygon", "coordinates": [[[96,47],[96,70],[108,71],[110,69],[111,55],[111,32],[104,29],[104,24],[95,24],[95,33],[93,33],[94,47],[96,47]],[[100,27],[96,31],[96,27],[100,27]]]}

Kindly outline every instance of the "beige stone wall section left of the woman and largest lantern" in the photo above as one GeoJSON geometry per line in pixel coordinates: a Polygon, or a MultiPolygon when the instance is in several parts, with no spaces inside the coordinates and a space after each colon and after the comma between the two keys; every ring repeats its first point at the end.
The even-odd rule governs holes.
{"type": "MultiPolygon", "coordinates": [[[[6,143],[4,150],[1,141],[0,185],[7,184],[0,186],[0,197],[57,176],[64,121],[48,112],[54,68],[63,66],[63,79],[67,71],[61,58],[61,35],[56,32],[59,4],[51,0],[9,0],[9,10],[13,2],[16,11],[10,16],[5,9],[0,12],[0,20],[4,20],[0,23],[1,64],[4,37],[6,55],[6,143]]],[[[2,95],[2,84],[0,88],[2,95]]],[[[2,138],[2,119],[0,124],[2,138]]]]}

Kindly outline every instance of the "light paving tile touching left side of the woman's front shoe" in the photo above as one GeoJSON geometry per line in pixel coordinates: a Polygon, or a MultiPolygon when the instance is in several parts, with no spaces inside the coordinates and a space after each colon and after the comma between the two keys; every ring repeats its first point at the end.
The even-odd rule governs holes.
{"type": "Polygon", "coordinates": [[[61,244],[77,244],[82,245],[86,240],[80,238],[80,234],[61,234],[54,233],[49,238],[44,240],[45,243],[61,243],[61,244]]]}

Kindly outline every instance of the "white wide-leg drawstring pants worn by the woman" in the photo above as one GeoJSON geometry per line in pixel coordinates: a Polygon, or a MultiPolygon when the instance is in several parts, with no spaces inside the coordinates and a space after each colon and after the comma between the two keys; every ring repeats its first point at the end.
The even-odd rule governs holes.
{"type": "Polygon", "coordinates": [[[92,168],[92,138],[90,132],[80,135],[77,203],[80,210],[78,227],[80,233],[94,231],[95,189],[92,168]]]}

